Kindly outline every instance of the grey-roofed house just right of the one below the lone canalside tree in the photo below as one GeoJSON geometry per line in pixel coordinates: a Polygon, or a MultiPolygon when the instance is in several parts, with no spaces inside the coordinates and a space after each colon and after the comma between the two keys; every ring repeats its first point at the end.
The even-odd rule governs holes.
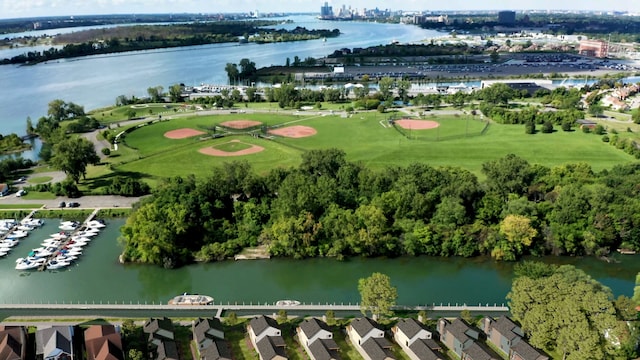
{"type": "Polygon", "coordinates": [[[425,329],[415,319],[402,319],[391,331],[394,340],[412,360],[438,360],[440,345],[432,338],[431,331],[425,329]]]}

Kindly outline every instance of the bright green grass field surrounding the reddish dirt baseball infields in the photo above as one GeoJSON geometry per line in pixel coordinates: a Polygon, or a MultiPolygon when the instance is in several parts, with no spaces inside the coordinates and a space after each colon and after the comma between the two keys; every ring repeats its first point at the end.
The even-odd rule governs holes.
{"type": "Polygon", "coordinates": [[[482,133],[485,123],[477,119],[428,113],[425,119],[438,121],[440,127],[411,130],[407,134],[407,130],[398,131],[389,126],[389,116],[366,112],[343,117],[328,113],[319,115],[314,111],[296,115],[266,112],[180,117],[143,126],[127,134],[126,145],[121,144],[118,151],[106,160],[107,164],[89,169],[88,177],[91,179],[86,185],[98,188],[106,184],[106,180],[114,176],[112,169],[145,179],[152,185],[163,177],[185,174],[208,176],[212,167],[232,160],[250,161],[254,169],[266,173],[277,166],[296,166],[304,151],[331,147],[343,149],[348,160],[373,168],[423,162],[432,166],[460,166],[477,175],[480,175],[483,163],[509,153],[550,167],[586,162],[595,170],[634,161],[633,157],[604,143],[601,136],[579,130],[563,132],[558,129],[551,134],[527,135],[522,125],[491,124],[482,133]],[[208,140],[201,140],[201,136],[177,140],[164,137],[167,131],[181,128],[213,133],[210,129],[216,124],[231,120],[255,120],[269,126],[305,125],[318,133],[307,138],[276,137],[274,140],[246,135],[208,140]],[[265,151],[242,157],[212,157],[198,152],[205,147],[240,150],[230,148],[231,140],[244,143],[234,146],[258,145],[265,151]]]}

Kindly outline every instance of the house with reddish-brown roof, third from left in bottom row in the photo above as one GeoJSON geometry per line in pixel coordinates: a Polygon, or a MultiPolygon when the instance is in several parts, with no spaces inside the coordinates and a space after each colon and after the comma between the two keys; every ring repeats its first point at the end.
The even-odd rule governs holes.
{"type": "Polygon", "coordinates": [[[122,338],[113,325],[93,325],[84,331],[87,360],[124,360],[122,338]]]}

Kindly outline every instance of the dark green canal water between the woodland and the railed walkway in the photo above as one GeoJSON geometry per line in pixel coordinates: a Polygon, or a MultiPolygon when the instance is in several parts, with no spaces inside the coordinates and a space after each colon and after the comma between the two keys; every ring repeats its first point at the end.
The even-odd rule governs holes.
{"type": "MultiPolygon", "coordinates": [[[[355,303],[357,281],[374,271],[391,277],[398,303],[502,304],[510,289],[513,264],[487,258],[396,258],[310,260],[245,260],[194,264],[175,270],[118,263],[119,228],[108,226],[88,245],[76,265],[58,271],[20,272],[15,260],[24,257],[57,231],[48,220],[6,257],[0,259],[2,303],[166,303],[183,292],[211,295],[216,303],[264,303],[296,299],[313,303],[355,303]]],[[[632,295],[640,256],[617,256],[619,262],[594,258],[544,258],[574,264],[611,287],[615,295],[632,295]]]]}

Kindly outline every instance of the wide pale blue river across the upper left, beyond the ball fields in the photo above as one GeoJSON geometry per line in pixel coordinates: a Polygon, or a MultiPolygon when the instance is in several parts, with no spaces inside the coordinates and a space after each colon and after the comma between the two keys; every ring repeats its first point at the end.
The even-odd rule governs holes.
{"type": "MultiPolygon", "coordinates": [[[[338,28],[341,35],[327,41],[276,44],[213,44],[63,59],[35,66],[0,66],[0,133],[24,134],[27,116],[35,123],[46,115],[54,99],[73,101],[85,109],[109,106],[119,95],[146,96],[146,89],[176,83],[227,83],[224,67],[249,58],[258,67],[284,65],[295,56],[321,57],[336,49],[416,42],[438,32],[411,25],[320,21],[312,16],[292,17],[282,27],[338,28]]],[[[15,49],[0,51],[0,58],[15,49]]]]}

